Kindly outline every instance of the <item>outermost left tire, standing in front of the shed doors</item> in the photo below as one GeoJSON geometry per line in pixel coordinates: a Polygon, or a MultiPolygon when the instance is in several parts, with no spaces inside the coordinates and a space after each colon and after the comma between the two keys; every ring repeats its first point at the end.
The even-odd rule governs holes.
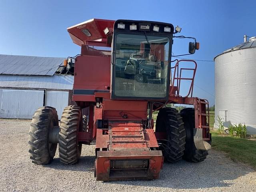
{"type": "Polygon", "coordinates": [[[53,107],[44,106],[36,110],[29,130],[29,153],[33,163],[49,164],[55,156],[58,144],[49,143],[49,132],[58,126],[57,111],[53,107]]]}

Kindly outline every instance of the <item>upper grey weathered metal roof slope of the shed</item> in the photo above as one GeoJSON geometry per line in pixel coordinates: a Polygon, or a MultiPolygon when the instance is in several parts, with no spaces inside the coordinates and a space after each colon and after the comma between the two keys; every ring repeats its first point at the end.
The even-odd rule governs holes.
{"type": "Polygon", "coordinates": [[[64,59],[0,54],[0,74],[53,76],[64,59]]]}

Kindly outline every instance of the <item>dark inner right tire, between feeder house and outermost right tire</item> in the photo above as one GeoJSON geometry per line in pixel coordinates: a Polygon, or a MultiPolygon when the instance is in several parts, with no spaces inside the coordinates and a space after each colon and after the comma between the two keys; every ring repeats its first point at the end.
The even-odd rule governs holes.
{"type": "Polygon", "coordinates": [[[162,152],[166,162],[174,163],[182,159],[185,150],[186,132],[182,117],[174,108],[162,108],[156,118],[156,132],[166,132],[162,152]]]}

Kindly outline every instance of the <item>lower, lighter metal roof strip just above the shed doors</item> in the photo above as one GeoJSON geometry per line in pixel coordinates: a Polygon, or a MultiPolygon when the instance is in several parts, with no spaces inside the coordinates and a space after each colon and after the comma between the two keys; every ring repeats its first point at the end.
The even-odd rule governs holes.
{"type": "Polygon", "coordinates": [[[32,89],[54,89],[72,90],[74,76],[21,76],[0,75],[0,88],[32,88],[32,89]]]}

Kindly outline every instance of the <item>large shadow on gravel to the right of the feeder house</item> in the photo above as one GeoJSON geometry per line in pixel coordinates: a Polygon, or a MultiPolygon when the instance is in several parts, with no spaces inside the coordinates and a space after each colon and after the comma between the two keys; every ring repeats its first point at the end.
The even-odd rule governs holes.
{"type": "Polygon", "coordinates": [[[132,186],[152,186],[173,189],[200,189],[227,187],[236,178],[254,170],[228,160],[223,154],[213,150],[204,162],[190,163],[184,160],[175,164],[164,164],[158,180],[115,181],[113,184],[132,186]]]}

